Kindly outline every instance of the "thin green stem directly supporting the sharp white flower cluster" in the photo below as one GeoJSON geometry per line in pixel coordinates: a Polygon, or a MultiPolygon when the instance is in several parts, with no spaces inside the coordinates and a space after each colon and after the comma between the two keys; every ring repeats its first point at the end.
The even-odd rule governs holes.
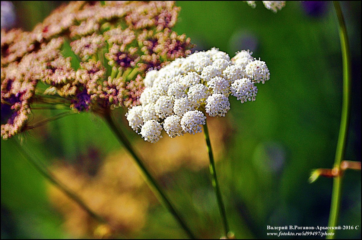
{"type": "Polygon", "coordinates": [[[205,121],[205,125],[203,125],[203,127],[204,127],[205,140],[206,140],[206,144],[207,144],[207,152],[209,153],[209,159],[210,159],[209,169],[210,169],[210,174],[211,174],[212,187],[214,188],[214,192],[216,194],[216,199],[217,199],[218,205],[219,205],[220,214],[221,214],[221,217],[223,220],[225,237],[228,237],[228,233],[229,233],[230,229],[229,229],[229,224],[227,222],[225,205],[224,205],[224,202],[223,202],[223,199],[221,196],[218,178],[216,177],[215,161],[214,161],[214,156],[212,154],[209,130],[207,129],[206,122],[207,121],[205,121]]]}

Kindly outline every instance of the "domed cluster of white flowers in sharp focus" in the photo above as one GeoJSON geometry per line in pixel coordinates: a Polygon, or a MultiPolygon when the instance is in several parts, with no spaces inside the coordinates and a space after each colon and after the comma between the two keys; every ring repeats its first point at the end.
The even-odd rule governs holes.
{"type": "Polygon", "coordinates": [[[162,128],[171,138],[201,132],[205,113],[224,117],[230,110],[230,95],[241,103],[254,101],[258,92],[254,84],[265,83],[270,73],[265,62],[251,55],[243,50],[230,59],[212,48],[148,71],[141,105],[126,114],[130,127],[144,140],[156,143],[162,138],[162,128]]]}

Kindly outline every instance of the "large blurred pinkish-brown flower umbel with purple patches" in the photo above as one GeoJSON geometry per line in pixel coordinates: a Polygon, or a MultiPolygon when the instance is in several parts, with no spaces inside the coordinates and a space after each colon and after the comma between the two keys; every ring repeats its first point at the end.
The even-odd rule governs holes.
{"type": "Polygon", "coordinates": [[[173,1],[76,1],[31,32],[2,29],[1,108],[10,117],[1,136],[24,131],[36,104],[98,114],[139,105],[146,71],[191,53],[190,39],[172,31],[179,10],[173,1]]]}

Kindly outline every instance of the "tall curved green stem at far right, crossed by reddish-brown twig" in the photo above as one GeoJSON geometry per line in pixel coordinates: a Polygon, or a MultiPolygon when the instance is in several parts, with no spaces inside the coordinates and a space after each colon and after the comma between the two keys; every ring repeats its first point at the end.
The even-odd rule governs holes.
{"type": "MultiPolygon", "coordinates": [[[[342,115],[341,115],[341,125],[337,142],[336,157],[334,158],[334,165],[340,173],[340,163],[344,158],[347,134],[348,134],[348,125],[350,117],[350,91],[351,91],[351,63],[350,63],[350,51],[348,45],[348,35],[346,31],[346,25],[344,22],[341,6],[338,1],[333,1],[334,9],[336,10],[338,18],[338,30],[341,41],[341,50],[342,50],[342,62],[343,62],[343,100],[342,100],[342,115]]],[[[334,227],[338,224],[339,209],[341,204],[341,187],[342,187],[342,177],[343,174],[338,174],[333,179],[333,189],[332,189],[332,201],[331,201],[331,211],[329,213],[328,226],[334,227]]],[[[327,235],[327,239],[333,239],[335,230],[328,230],[328,233],[333,233],[327,235]]]]}

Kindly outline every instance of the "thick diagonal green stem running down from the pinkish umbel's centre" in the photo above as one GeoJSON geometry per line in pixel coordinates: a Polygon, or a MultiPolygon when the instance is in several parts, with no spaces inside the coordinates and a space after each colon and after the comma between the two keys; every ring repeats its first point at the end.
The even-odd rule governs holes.
{"type": "Polygon", "coordinates": [[[195,236],[190,231],[189,227],[186,225],[184,219],[182,219],[181,215],[177,213],[174,206],[171,204],[171,202],[168,200],[166,194],[163,192],[161,187],[157,184],[156,180],[153,179],[152,175],[148,172],[146,166],[144,166],[142,160],[138,157],[135,150],[133,149],[131,143],[127,139],[126,135],[123,133],[121,128],[118,128],[115,125],[115,122],[113,121],[110,112],[106,112],[104,114],[104,118],[106,122],[108,123],[109,127],[113,131],[113,133],[117,136],[118,141],[123,144],[123,146],[129,151],[129,153],[132,155],[132,157],[135,160],[136,165],[139,167],[142,176],[148,186],[151,188],[153,194],[157,197],[157,199],[167,208],[170,213],[173,215],[174,218],[176,218],[177,222],[180,224],[180,226],[184,229],[186,234],[191,238],[195,239],[195,236]]]}

